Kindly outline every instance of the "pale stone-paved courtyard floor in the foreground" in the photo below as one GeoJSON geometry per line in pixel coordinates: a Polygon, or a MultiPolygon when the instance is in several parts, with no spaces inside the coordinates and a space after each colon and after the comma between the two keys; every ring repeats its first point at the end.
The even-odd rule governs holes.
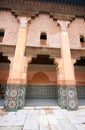
{"type": "Polygon", "coordinates": [[[77,111],[30,104],[23,110],[8,113],[1,106],[0,130],[85,130],[85,100],[80,102],[77,111]]]}

